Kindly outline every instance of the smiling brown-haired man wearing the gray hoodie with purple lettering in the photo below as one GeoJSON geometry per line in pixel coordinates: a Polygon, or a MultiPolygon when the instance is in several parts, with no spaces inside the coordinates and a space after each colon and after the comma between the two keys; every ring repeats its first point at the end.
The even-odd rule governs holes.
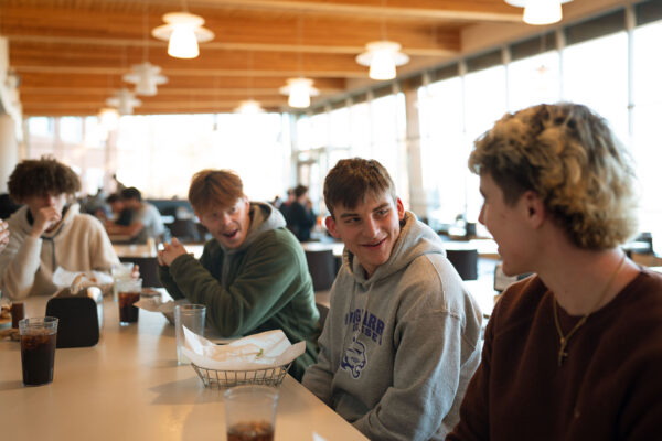
{"type": "Polygon", "coordinates": [[[480,309],[377,161],[339,161],[324,201],[345,250],[303,386],[372,440],[441,440],[480,362],[480,309]]]}

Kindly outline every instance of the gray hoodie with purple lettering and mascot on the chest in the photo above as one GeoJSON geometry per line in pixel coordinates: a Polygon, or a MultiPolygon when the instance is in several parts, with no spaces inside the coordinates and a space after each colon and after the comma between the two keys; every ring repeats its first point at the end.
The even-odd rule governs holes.
{"type": "Polygon", "coordinates": [[[481,312],[441,239],[406,213],[373,276],[345,248],[303,385],[372,440],[442,440],[480,362],[481,312]]]}

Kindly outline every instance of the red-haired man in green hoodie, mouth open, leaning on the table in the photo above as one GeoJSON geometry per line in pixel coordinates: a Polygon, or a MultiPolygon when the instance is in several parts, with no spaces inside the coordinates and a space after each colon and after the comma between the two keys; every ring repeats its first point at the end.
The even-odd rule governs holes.
{"type": "Polygon", "coordinates": [[[306,341],[290,374],[301,379],[317,359],[319,312],[306,255],[278,209],[249,202],[239,176],[203,170],[193,176],[189,202],[213,236],[200,260],[172,239],[159,251],[159,278],[174,299],[207,306],[207,322],[223,337],[282,330],[306,341]]]}

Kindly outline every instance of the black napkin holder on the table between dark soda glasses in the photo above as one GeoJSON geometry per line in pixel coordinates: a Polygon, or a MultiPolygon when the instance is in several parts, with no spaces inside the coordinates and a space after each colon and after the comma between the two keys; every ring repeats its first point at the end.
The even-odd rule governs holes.
{"type": "Polygon", "coordinates": [[[60,319],[56,347],[94,346],[104,320],[102,291],[89,287],[72,294],[62,289],[46,303],[46,315],[60,319]]]}

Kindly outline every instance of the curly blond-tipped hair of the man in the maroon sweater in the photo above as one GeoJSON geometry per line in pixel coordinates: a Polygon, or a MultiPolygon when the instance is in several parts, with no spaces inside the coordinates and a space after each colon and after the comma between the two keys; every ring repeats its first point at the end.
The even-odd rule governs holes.
{"type": "Polygon", "coordinates": [[[476,140],[469,169],[489,173],[511,206],[535,191],[580,248],[613,248],[637,232],[630,157],[607,121],[586,106],[506,114],[476,140]]]}

